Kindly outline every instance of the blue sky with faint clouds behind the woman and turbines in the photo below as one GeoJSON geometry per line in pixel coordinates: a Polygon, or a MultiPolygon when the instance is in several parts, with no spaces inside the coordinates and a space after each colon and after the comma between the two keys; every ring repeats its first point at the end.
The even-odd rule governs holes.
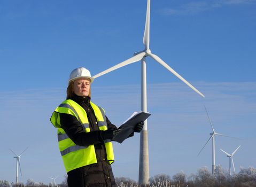
{"type": "MultiPolygon", "coordinates": [[[[211,126],[216,164],[256,167],[256,1],[151,1],[150,49],[206,96],[147,58],[150,176],[211,170],[211,126]]],[[[144,49],[146,1],[0,1],[0,179],[15,181],[15,159],[23,176],[49,183],[64,179],[52,111],[65,99],[76,67],[95,75],[144,49]]],[[[140,63],[99,77],[92,100],[121,124],[140,110],[140,63]]],[[[137,180],[139,135],[114,143],[116,177],[137,180]]]]}

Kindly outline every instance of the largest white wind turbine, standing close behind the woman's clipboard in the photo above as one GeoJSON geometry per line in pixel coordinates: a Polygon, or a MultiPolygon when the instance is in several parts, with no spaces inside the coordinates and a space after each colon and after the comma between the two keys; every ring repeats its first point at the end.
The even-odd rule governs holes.
{"type": "MultiPolygon", "coordinates": [[[[200,96],[204,97],[204,95],[198,91],[195,87],[193,87],[188,81],[183,79],[181,75],[174,71],[169,65],[167,65],[162,59],[160,59],[156,54],[151,53],[149,49],[149,41],[150,41],[150,0],[148,0],[147,10],[146,10],[146,23],[145,30],[143,36],[143,44],[145,45],[145,49],[140,52],[134,53],[134,57],[131,57],[122,63],[115,65],[111,68],[106,69],[105,71],[94,75],[94,78],[102,76],[106,73],[112,72],[115,69],[120,67],[135,63],[141,60],[141,111],[147,112],[147,103],[146,103],[146,57],[151,57],[156,60],[159,64],[164,66],[170,72],[172,72],[175,76],[177,76],[181,81],[187,84],[191,89],[196,91],[200,96]]],[[[139,184],[148,184],[149,183],[149,150],[148,150],[148,129],[147,129],[147,121],[144,121],[144,127],[141,132],[140,138],[140,151],[139,151],[139,184]]]]}

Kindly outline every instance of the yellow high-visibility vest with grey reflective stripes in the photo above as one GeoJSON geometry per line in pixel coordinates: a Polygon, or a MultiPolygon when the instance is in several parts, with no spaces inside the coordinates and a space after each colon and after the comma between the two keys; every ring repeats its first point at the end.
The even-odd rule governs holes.
{"type": "MultiPolygon", "coordinates": [[[[106,116],[103,108],[98,107],[92,102],[90,102],[90,105],[94,110],[99,130],[107,130],[106,116]]],[[[86,111],[71,99],[64,100],[64,102],[61,103],[52,113],[51,122],[53,126],[58,128],[59,150],[63,158],[66,172],[82,166],[91,165],[92,163],[97,163],[94,145],[76,145],[61,128],[59,113],[75,116],[75,118],[81,122],[86,133],[90,132],[90,128],[86,111]]],[[[114,152],[111,140],[106,139],[106,141],[104,141],[104,145],[107,154],[106,161],[111,164],[114,162],[114,152]]]]}

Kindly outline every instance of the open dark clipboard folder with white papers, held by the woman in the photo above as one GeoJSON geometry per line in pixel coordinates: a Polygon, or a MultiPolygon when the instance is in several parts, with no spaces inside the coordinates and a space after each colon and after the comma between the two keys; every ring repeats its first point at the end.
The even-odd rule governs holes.
{"type": "Polygon", "coordinates": [[[131,133],[137,123],[145,121],[151,114],[146,112],[134,112],[131,116],[121,124],[117,131],[114,133],[113,141],[122,143],[131,133]]]}

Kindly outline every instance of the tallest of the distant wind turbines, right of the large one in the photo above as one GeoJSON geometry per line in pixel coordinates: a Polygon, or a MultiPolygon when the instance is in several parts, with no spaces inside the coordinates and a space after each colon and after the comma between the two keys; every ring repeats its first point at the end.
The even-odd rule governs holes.
{"type": "MultiPolygon", "coordinates": [[[[205,106],[204,106],[205,107],[205,106]]],[[[211,127],[212,127],[212,133],[210,133],[210,138],[208,139],[208,141],[206,142],[206,144],[212,139],[212,174],[214,175],[214,172],[215,172],[215,136],[216,135],[219,135],[219,136],[226,136],[226,135],[223,135],[223,134],[220,134],[220,133],[216,133],[216,131],[213,129],[213,125],[212,125],[212,122],[211,122],[211,119],[210,119],[210,116],[206,110],[206,107],[205,107],[205,111],[206,111],[206,114],[208,116],[208,120],[211,124],[211,127]]],[[[231,137],[231,136],[226,136],[226,137],[230,137],[230,138],[235,138],[235,137],[231,137]]],[[[238,138],[237,138],[238,139],[238,138]]],[[[198,155],[201,153],[201,151],[204,149],[204,147],[206,146],[206,144],[203,146],[203,148],[199,151],[198,155]]],[[[198,156],[197,155],[197,156],[198,156]]]]}

